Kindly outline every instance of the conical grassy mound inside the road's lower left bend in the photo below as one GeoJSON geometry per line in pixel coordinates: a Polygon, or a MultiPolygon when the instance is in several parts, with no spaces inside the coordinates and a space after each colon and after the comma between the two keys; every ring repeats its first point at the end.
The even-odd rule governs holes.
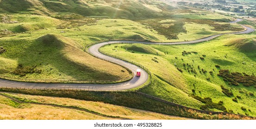
{"type": "Polygon", "coordinates": [[[2,61],[8,66],[7,62],[12,59],[16,65],[14,69],[13,65],[1,67],[1,75],[7,78],[115,82],[131,75],[119,65],[84,53],[77,42],[60,35],[47,34],[36,40],[20,41],[19,45],[12,45],[14,43],[3,44],[7,52],[1,54],[2,61]]]}

